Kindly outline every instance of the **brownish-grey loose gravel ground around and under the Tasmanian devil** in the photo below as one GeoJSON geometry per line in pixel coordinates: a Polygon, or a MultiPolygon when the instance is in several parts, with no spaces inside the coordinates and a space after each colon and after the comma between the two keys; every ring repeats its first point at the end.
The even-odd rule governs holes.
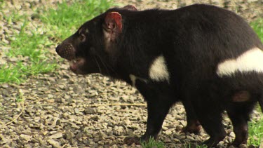
{"type": "MultiPolygon", "coordinates": [[[[18,32],[22,25],[19,22],[8,25],[3,13],[8,14],[15,9],[31,15],[32,8],[43,5],[55,7],[58,1],[8,1],[8,6],[0,12],[1,41],[8,43],[8,36],[18,32]]],[[[124,4],[123,1],[116,2],[124,4]]],[[[134,4],[139,9],[178,8],[190,2],[177,4],[173,1],[133,0],[125,4],[134,4]]],[[[218,1],[213,3],[224,6],[218,1]]],[[[240,8],[228,8],[236,8],[236,12],[244,18],[253,20],[262,16],[262,6],[257,4],[259,2],[249,2],[241,4],[240,8]]],[[[43,26],[37,20],[30,20],[29,25],[43,26]]],[[[0,65],[16,61],[2,54],[9,48],[0,46],[0,65]]],[[[47,50],[51,52],[50,60],[59,58],[55,54],[55,46],[47,50]]],[[[19,85],[0,84],[0,147],[128,147],[123,144],[124,137],[144,133],[147,110],[135,88],[100,74],[76,76],[69,72],[67,62],[61,61],[59,65],[58,72],[31,76],[19,85]],[[15,102],[17,97],[25,101],[15,102]]],[[[253,119],[260,117],[261,113],[255,111],[253,119]]],[[[234,139],[227,117],[224,118],[224,125],[228,135],[219,147],[227,147],[234,139]]],[[[160,134],[166,147],[184,147],[185,143],[208,138],[203,130],[199,135],[180,133],[184,126],[184,107],[177,103],[170,109],[160,134]]]]}

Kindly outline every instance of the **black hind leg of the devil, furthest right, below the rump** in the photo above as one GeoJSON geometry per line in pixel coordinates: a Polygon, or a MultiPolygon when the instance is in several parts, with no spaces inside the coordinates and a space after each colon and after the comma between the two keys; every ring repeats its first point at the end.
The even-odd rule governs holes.
{"type": "Polygon", "coordinates": [[[248,140],[248,121],[254,107],[254,102],[233,102],[227,109],[227,114],[234,127],[236,138],[233,145],[238,147],[248,140]]]}

